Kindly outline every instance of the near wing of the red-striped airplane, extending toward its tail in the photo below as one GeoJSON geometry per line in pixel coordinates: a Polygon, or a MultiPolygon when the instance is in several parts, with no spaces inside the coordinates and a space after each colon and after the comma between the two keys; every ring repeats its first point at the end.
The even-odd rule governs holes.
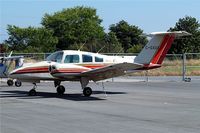
{"type": "Polygon", "coordinates": [[[137,63],[119,63],[109,65],[103,68],[92,69],[90,71],[82,72],[79,76],[88,77],[90,80],[99,81],[116,76],[124,75],[127,70],[136,70],[143,67],[143,64],[137,63]]]}

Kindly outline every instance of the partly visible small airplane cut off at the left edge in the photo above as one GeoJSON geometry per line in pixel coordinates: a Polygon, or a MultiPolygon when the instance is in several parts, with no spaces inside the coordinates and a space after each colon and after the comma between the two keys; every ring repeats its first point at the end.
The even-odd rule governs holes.
{"type": "MultiPolygon", "coordinates": [[[[0,78],[8,78],[8,71],[13,61],[15,61],[14,68],[18,68],[23,65],[23,56],[12,56],[11,52],[7,57],[0,57],[0,78]]],[[[7,84],[8,86],[12,86],[14,84],[13,79],[8,79],[7,84]]],[[[20,81],[15,81],[15,86],[20,87],[21,84],[20,81]]]]}

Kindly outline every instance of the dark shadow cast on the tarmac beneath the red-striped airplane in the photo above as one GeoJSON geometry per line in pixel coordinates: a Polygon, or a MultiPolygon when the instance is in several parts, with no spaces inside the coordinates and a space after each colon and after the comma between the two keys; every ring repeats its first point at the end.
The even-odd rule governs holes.
{"type": "MultiPolygon", "coordinates": [[[[104,91],[93,91],[92,96],[85,97],[82,94],[63,94],[58,95],[57,93],[52,92],[37,92],[36,96],[28,96],[27,91],[1,91],[0,98],[7,98],[7,97],[14,97],[20,99],[40,99],[40,98],[60,98],[72,101],[96,101],[96,100],[106,100],[104,98],[93,97],[95,94],[104,94],[104,91]]],[[[108,95],[115,95],[115,94],[126,94],[125,92],[110,92],[106,91],[108,95]]]]}

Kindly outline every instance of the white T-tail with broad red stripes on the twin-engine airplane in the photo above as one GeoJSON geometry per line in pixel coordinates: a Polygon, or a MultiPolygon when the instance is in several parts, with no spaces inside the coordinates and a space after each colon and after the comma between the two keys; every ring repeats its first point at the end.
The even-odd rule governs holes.
{"type": "Polygon", "coordinates": [[[160,67],[176,37],[191,35],[185,31],[153,32],[152,37],[142,49],[134,62],[143,64],[148,69],[160,67]]]}

